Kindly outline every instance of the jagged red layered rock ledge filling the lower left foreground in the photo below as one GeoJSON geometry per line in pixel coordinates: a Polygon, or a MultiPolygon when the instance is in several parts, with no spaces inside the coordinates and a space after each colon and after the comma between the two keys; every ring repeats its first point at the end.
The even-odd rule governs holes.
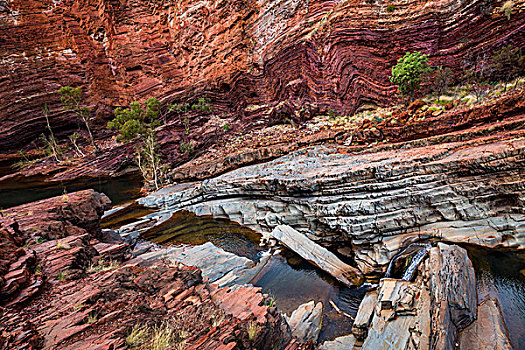
{"type": "Polygon", "coordinates": [[[260,288],[218,288],[194,267],[129,260],[128,244],[100,231],[108,204],[87,190],[2,212],[2,349],[114,349],[134,326],[166,324],[185,349],[300,347],[260,288]]]}

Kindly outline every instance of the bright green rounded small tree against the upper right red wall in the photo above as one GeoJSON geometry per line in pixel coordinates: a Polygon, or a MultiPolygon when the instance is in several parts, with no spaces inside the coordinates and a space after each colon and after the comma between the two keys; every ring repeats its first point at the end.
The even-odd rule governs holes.
{"type": "Polygon", "coordinates": [[[392,67],[390,81],[398,86],[399,91],[403,95],[410,95],[410,101],[412,102],[414,101],[414,92],[421,85],[422,77],[430,71],[428,55],[419,51],[407,52],[392,67]]]}

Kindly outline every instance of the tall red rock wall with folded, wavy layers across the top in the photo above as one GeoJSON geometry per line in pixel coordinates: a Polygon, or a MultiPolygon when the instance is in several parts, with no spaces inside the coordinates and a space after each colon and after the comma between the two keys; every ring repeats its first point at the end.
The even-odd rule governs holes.
{"type": "Polygon", "coordinates": [[[61,85],[84,88],[104,137],[112,108],[133,99],[205,93],[247,122],[261,118],[249,105],[349,112],[391,101],[389,72],[406,51],[458,69],[469,51],[525,47],[522,0],[511,20],[497,11],[501,1],[400,1],[392,13],[379,2],[2,2],[0,153],[42,133],[46,102],[59,134],[76,127],[54,93],[61,85]]]}

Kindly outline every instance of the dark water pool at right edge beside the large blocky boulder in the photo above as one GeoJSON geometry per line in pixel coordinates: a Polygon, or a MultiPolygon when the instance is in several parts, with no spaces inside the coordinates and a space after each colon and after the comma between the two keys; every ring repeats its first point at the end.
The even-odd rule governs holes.
{"type": "Polygon", "coordinates": [[[478,285],[478,301],[496,298],[514,349],[525,349],[525,252],[466,247],[478,285]]]}

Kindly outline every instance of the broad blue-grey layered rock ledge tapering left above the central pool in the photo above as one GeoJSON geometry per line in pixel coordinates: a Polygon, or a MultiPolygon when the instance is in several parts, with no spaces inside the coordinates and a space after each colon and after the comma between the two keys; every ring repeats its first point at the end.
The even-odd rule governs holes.
{"type": "Polygon", "coordinates": [[[289,225],[363,273],[380,273],[420,240],[523,248],[524,152],[521,131],[361,153],[314,146],[140,202],[164,215],[185,209],[259,232],[289,225]]]}

